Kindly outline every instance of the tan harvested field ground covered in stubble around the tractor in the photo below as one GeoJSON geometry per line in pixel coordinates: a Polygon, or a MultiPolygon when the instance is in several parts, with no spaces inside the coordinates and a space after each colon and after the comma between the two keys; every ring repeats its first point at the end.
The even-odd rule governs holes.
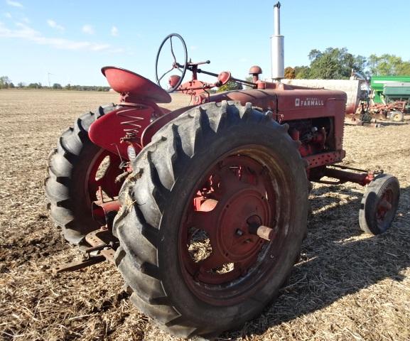
{"type": "MultiPolygon", "coordinates": [[[[48,152],[80,114],[116,101],[112,93],[0,90],[2,340],[176,340],[131,305],[114,266],[50,273],[81,254],[63,241],[45,208],[48,152]]],[[[359,185],[316,184],[302,259],[281,296],[218,340],[410,340],[406,119],[379,129],[345,126],[345,164],[399,178],[392,228],[377,237],[360,232],[359,185]]]]}

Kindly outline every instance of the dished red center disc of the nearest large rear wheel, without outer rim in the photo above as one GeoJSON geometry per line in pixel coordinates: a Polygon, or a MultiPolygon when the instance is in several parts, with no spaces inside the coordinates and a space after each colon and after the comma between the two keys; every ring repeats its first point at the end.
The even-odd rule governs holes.
{"type": "Polygon", "coordinates": [[[196,209],[188,211],[181,235],[187,276],[207,285],[245,276],[266,244],[249,226],[271,224],[274,195],[264,166],[247,156],[229,156],[195,193],[196,209]]]}

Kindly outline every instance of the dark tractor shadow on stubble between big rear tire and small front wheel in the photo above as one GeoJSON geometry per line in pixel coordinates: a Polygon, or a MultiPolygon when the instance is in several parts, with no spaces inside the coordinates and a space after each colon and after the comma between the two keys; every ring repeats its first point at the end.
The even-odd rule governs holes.
{"type": "Polygon", "coordinates": [[[410,186],[401,188],[392,227],[374,237],[363,234],[359,227],[362,193],[343,185],[313,189],[313,217],[301,261],[279,298],[242,330],[225,336],[262,335],[272,326],[323,309],[385,278],[404,279],[400,272],[410,266],[410,186]],[[340,194],[348,199],[340,199],[340,194]]]}

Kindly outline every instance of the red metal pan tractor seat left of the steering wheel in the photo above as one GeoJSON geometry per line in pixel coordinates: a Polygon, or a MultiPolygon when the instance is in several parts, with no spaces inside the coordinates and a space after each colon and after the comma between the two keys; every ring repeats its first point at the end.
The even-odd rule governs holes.
{"type": "Polygon", "coordinates": [[[146,77],[121,67],[105,66],[101,69],[112,90],[131,97],[141,97],[156,103],[169,103],[171,96],[146,77]]]}

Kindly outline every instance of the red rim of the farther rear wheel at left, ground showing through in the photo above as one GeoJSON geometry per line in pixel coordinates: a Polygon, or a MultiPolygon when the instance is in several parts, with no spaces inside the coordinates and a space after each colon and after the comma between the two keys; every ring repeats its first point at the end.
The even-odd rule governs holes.
{"type": "Polygon", "coordinates": [[[108,197],[114,198],[119,193],[121,184],[115,183],[115,178],[121,173],[119,156],[102,149],[90,163],[85,177],[86,197],[91,202],[99,200],[97,193],[101,189],[108,197]],[[105,165],[104,165],[105,163],[105,165]]]}

